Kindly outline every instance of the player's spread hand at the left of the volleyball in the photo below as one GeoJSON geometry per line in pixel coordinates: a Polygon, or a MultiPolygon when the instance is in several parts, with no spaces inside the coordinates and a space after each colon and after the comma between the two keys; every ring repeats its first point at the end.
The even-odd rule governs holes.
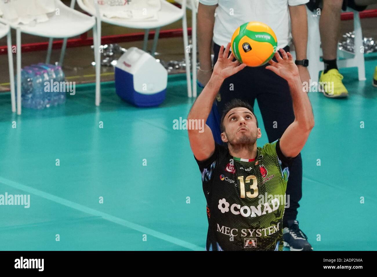
{"type": "Polygon", "coordinates": [[[224,45],[220,47],[218,60],[213,67],[213,75],[222,78],[223,80],[229,76],[236,74],[246,67],[246,64],[241,64],[238,60],[234,60],[233,53],[229,55],[230,43],[224,51],[224,45]]]}

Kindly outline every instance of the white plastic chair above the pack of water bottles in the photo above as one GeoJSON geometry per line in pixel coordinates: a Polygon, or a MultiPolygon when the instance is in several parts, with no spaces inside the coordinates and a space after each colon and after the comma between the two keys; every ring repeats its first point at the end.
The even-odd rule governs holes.
{"type": "Polygon", "coordinates": [[[97,33],[94,17],[75,11],[64,5],[60,0],[54,1],[56,9],[59,11],[59,15],[56,13],[53,13],[52,15],[48,14],[49,20],[46,22],[36,23],[35,26],[31,26],[5,21],[11,26],[11,28],[16,29],[18,115],[21,114],[21,32],[50,38],[51,46],[49,47],[48,56],[51,55],[52,38],[75,37],[92,28],[93,33],[97,33]]]}

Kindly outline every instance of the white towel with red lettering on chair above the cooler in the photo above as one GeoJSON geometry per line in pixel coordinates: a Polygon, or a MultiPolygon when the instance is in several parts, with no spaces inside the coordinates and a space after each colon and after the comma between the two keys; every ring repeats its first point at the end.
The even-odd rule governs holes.
{"type": "Polygon", "coordinates": [[[95,11],[94,1],[97,1],[101,15],[128,21],[157,21],[161,9],[161,0],[83,0],[95,11]]]}

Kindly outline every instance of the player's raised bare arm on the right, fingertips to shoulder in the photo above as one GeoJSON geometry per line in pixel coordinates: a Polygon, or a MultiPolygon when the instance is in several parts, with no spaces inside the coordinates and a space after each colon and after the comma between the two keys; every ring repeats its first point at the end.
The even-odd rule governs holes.
{"type": "Polygon", "coordinates": [[[280,49],[280,52],[282,57],[279,53],[275,54],[277,63],[270,60],[270,66],[266,68],[287,80],[290,88],[294,121],[280,138],[280,150],[287,158],[294,158],[299,155],[314,127],[314,116],[308,94],[303,90],[299,70],[292,55],[289,52],[286,53],[284,49],[280,49]]]}

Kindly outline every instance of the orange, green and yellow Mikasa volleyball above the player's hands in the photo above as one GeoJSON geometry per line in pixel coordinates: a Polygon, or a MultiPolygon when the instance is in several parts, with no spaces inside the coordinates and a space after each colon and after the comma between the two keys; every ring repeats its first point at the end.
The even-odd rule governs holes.
{"type": "Polygon", "coordinates": [[[234,32],[231,51],[234,57],[248,66],[256,67],[268,63],[277,49],[274,31],[266,24],[251,21],[242,24],[234,32]]]}

